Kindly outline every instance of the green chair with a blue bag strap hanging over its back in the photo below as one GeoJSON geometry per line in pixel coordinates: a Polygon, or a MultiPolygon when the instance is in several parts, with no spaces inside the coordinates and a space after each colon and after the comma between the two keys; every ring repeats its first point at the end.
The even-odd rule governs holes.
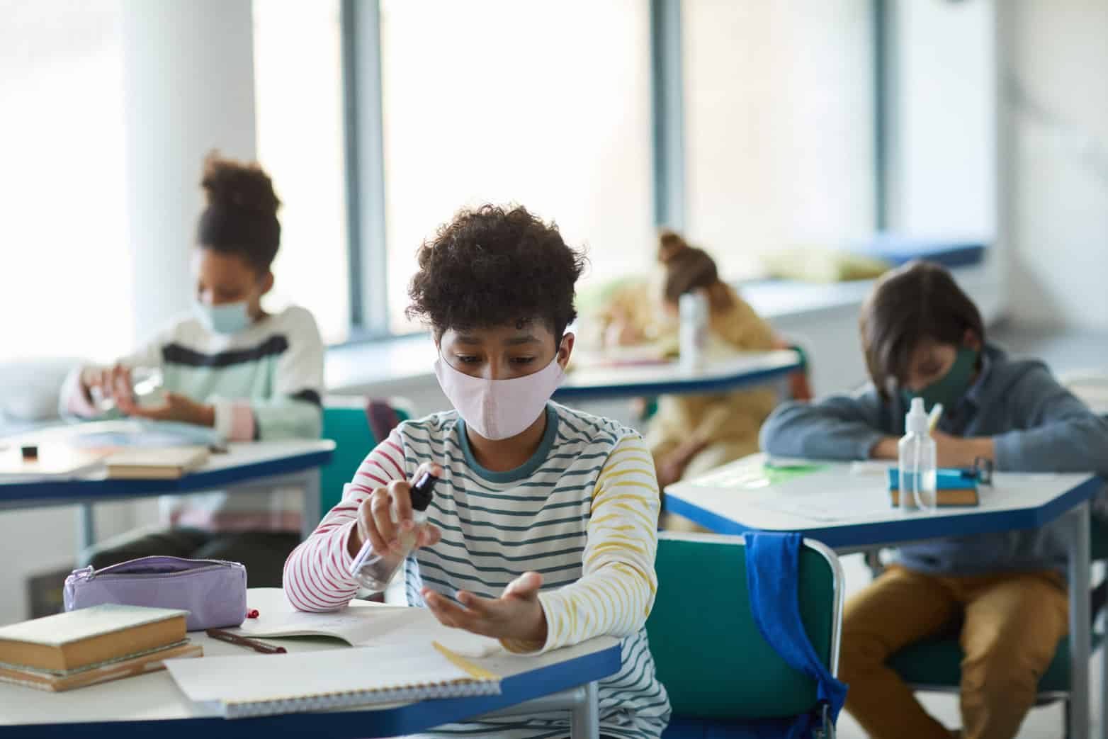
{"type": "MultiPolygon", "coordinates": [[[[815,681],[792,669],[755,624],[742,537],[659,532],[658,594],[646,622],[674,717],[664,738],[737,736],[747,721],[813,710],[815,681]],[[753,668],[751,668],[753,667],[753,668]]],[[[838,668],[842,571],[823,544],[800,553],[801,620],[815,653],[838,668]]],[[[824,736],[834,727],[824,715],[824,736]]]]}

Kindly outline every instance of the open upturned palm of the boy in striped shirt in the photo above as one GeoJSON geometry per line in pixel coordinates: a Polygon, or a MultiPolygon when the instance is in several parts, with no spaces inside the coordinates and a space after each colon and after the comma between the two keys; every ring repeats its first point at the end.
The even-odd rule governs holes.
{"type": "Polygon", "coordinates": [[[543,576],[529,572],[516,577],[499,598],[480,598],[466,591],[458,592],[458,602],[451,603],[440,593],[423,588],[423,601],[444,626],[491,636],[494,639],[513,639],[534,644],[546,643],[546,614],[538,603],[538,588],[543,576]]]}

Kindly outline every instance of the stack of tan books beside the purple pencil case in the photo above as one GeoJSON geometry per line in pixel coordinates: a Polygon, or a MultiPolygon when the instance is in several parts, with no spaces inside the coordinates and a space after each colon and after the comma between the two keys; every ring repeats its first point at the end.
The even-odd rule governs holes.
{"type": "Polygon", "coordinates": [[[199,657],[185,635],[187,610],[100,605],[0,628],[0,680],[70,690],[199,657]]]}

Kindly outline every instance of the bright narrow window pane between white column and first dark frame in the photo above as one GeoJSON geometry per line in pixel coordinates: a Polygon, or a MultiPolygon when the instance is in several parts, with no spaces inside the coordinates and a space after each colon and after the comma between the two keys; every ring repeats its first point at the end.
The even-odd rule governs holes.
{"type": "Polygon", "coordinates": [[[281,247],[271,308],[311,310],[324,339],[350,330],[338,0],[255,0],[258,161],[274,179],[281,247]]]}

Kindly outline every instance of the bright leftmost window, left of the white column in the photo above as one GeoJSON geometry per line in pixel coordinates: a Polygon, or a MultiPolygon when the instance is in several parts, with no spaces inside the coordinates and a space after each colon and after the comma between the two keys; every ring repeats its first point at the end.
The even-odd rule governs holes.
{"type": "Polygon", "coordinates": [[[0,359],[133,342],[119,0],[0,10],[0,359]]]}

